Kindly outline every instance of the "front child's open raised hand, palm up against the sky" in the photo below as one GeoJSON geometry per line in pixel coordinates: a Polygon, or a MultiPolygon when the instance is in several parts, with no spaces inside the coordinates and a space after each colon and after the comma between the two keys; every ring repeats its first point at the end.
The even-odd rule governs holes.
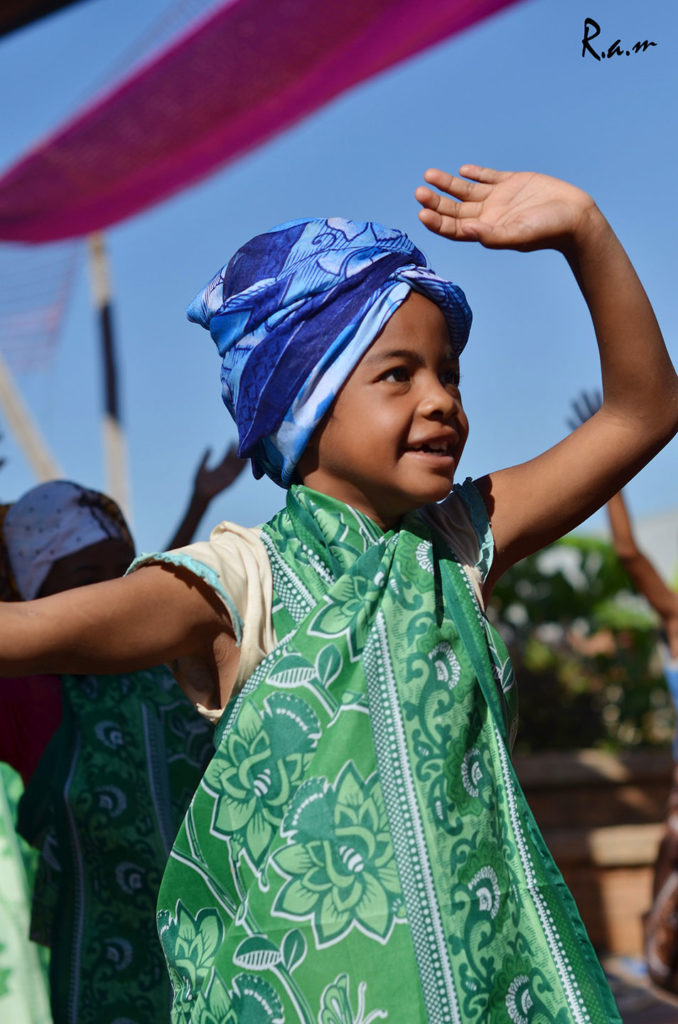
{"type": "Polygon", "coordinates": [[[488,249],[565,252],[592,218],[601,218],[585,191],[546,174],[475,164],[463,164],[459,173],[463,177],[430,168],[424,178],[438,191],[425,185],[415,191],[423,207],[419,219],[446,239],[488,249]]]}

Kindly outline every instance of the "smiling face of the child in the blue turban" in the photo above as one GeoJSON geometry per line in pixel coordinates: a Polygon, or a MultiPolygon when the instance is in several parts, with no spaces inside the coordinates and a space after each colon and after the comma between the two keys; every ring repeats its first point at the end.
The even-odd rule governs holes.
{"type": "Polygon", "coordinates": [[[468,437],[440,309],[411,292],[339,392],[298,464],[303,482],[384,529],[446,498],[468,437]]]}

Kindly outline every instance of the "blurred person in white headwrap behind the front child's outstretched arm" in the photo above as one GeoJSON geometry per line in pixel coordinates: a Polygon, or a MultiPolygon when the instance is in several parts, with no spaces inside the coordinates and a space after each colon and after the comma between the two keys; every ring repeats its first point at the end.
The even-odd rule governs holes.
{"type": "MultiPolygon", "coordinates": [[[[232,449],[213,469],[208,459],[209,452],[171,546],[190,540],[212,498],[244,465],[232,449]]],[[[19,600],[114,579],[134,557],[116,503],[67,480],[40,484],[5,507],[2,542],[4,593],[19,600]]],[[[212,727],[166,666],[120,676],[0,679],[0,761],[26,787],[18,831],[39,850],[31,938],[50,950],[52,1017],[39,1006],[12,1020],[164,1024],[170,989],[156,898],[175,833],[212,755],[212,727]]],[[[15,803],[15,781],[8,777],[3,792],[10,788],[15,803]]],[[[20,874],[11,805],[5,804],[4,833],[20,874]]],[[[15,907],[14,930],[19,919],[15,907]]],[[[15,953],[14,966],[17,955],[36,962],[28,989],[35,1004],[35,949],[15,953]]],[[[25,975],[24,964],[20,970],[25,975]]],[[[26,977],[14,987],[27,991],[26,977]]]]}

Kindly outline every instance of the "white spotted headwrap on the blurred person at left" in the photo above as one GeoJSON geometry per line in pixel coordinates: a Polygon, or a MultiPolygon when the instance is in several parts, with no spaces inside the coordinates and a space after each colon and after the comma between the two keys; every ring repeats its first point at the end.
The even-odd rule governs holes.
{"type": "Polygon", "coordinates": [[[125,517],[107,495],[49,480],[27,490],[7,510],[3,542],[16,589],[25,601],[40,593],[54,562],[99,541],[126,541],[134,550],[125,517]]]}

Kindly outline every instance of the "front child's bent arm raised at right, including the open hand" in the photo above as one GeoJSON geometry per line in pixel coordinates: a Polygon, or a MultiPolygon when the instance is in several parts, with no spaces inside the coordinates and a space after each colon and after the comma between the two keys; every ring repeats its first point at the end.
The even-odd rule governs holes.
{"type": "Polygon", "coordinates": [[[495,536],[488,592],[510,565],[573,529],[678,429],[678,378],[647,296],[593,200],[543,174],[466,164],[429,170],[420,219],[444,238],[490,249],[556,249],[589,307],[600,355],[600,410],[531,462],[481,478],[495,536]]]}

